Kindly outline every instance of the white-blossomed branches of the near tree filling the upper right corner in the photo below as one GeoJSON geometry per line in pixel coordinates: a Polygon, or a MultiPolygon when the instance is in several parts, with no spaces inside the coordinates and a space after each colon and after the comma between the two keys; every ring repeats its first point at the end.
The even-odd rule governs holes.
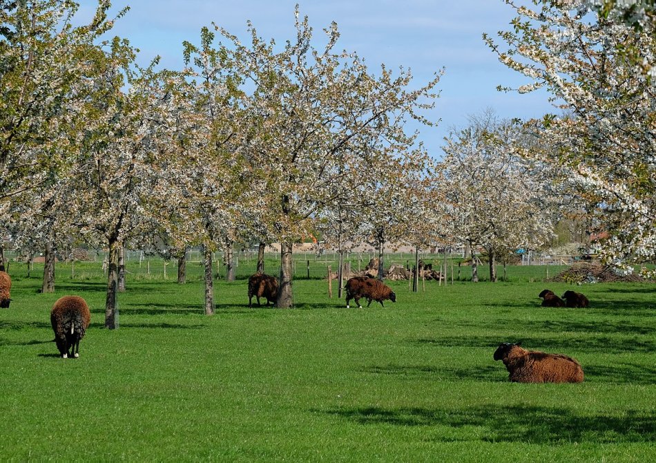
{"type": "MultiPolygon", "coordinates": [[[[614,8],[634,11],[642,3],[614,8]]],[[[548,88],[563,111],[530,122],[544,149],[523,154],[558,171],[561,184],[585,198],[596,231],[610,234],[597,243],[599,252],[630,272],[656,258],[656,36],[649,21],[636,28],[625,16],[602,15],[607,6],[517,8],[529,21],[500,33],[508,48],[487,40],[501,62],[533,79],[522,91],[548,88]]],[[[652,14],[647,9],[645,17],[652,14]]]]}

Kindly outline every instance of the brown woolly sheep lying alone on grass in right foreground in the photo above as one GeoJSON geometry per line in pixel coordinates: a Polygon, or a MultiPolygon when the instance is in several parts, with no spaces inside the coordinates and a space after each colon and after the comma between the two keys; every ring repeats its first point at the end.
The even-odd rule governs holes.
{"type": "Polygon", "coordinates": [[[501,343],[494,352],[494,360],[502,360],[510,372],[510,381],[517,383],[583,381],[583,368],[575,359],[566,355],[525,350],[519,347],[519,343],[501,343]]]}

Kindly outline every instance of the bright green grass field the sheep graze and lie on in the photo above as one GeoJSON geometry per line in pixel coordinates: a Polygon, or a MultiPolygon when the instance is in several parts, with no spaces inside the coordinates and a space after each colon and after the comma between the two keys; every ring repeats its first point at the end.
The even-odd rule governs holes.
{"type": "Polygon", "coordinates": [[[168,281],[128,275],[110,331],[90,265],[59,265],[55,294],[39,294],[38,268],[10,267],[0,460],[656,460],[654,284],[586,285],[590,308],[541,308],[541,290],[570,286],[510,267],[508,283],[391,282],[396,304],[347,310],[311,278],[295,308],[249,309],[243,265],[204,316],[193,269],[185,285],[174,265],[168,281]],[[92,308],[77,360],[49,342],[64,294],[92,308]],[[511,384],[492,354],[518,340],[577,358],[586,381],[511,384]]]}

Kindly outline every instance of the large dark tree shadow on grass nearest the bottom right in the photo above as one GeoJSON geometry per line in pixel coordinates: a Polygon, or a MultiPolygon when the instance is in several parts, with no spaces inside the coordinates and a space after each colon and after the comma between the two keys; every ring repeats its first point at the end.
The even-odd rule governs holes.
{"type": "MultiPolygon", "coordinates": [[[[461,410],[441,408],[339,407],[329,415],[362,425],[449,426],[462,428],[470,435],[461,440],[483,442],[655,442],[656,419],[653,413],[628,410],[626,415],[579,416],[568,408],[541,406],[479,406],[461,410]],[[467,427],[480,431],[470,431],[467,427]]],[[[439,440],[439,438],[436,438],[439,440]]],[[[445,440],[452,441],[453,437],[445,440]]]]}

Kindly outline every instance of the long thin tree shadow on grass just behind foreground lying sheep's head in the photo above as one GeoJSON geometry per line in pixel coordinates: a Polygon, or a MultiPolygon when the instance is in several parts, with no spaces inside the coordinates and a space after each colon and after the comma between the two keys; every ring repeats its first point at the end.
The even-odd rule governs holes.
{"type": "Polygon", "coordinates": [[[585,339],[558,339],[558,333],[554,333],[554,337],[537,337],[537,336],[521,336],[517,339],[512,337],[500,336],[445,336],[435,338],[421,338],[409,341],[413,344],[421,346],[436,346],[436,347],[470,347],[470,348],[490,348],[490,357],[494,353],[500,343],[502,342],[517,342],[521,341],[522,346],[528,350],[541,350],[543,352],[551,352],[558,354],[568,355],[568,351],[577,350],[580,352],[597,352],[597,353],[619,353],[619,352],[633,352],[633,353],[651,353],[656,350],[656,341],[645,339],[626,339],[617,341],[607,336],[591,337],[585,339]]]}

